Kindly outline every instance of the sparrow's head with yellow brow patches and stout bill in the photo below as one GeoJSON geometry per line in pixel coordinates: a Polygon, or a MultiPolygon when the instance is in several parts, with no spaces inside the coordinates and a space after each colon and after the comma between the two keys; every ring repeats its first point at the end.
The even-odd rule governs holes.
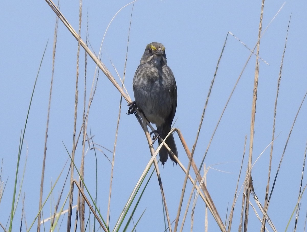
{"type": "Polygon", "coordinates": [[[165,47],[163,44],[152,42],[147,44],[141,59],[141,64],[165,65],[165,47]]]}

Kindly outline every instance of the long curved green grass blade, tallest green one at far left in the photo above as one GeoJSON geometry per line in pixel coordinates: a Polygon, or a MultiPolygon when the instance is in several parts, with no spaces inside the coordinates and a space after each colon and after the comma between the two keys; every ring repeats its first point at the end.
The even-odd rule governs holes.
{"type": "Polygon", "coordinates": [[[45,56],[45,51],[48,45],[48,41],[46,43],[46,47],[43,53],[43,56],[41,58],[41,63],[39,65],[38,71],[37,71],[37,75],[35,78],[35,82],[34,82],[34,86],[33,86],[33,90],[32,90],[32,95],[31,95],[31,99],[30,99],[30,103],[29,103],[29,108],[28,108],[28,113],[27,113],[27,117],[25,119],[25,128],[23,129],[23,134],[22,134],[22,138],[21,141],[19,143],[19,150],[18,150],[18,157],[17,157],[17,167],[16,167],[16,175],[15,175],[15,185],[14,185],[14,192],[13,192],[13,200],[12,200],[12,209],[11,209],[11,219],[10,219],[10,227],[9,227],[9,232],[12,231],[12,224],[13,224],[13,217],[14,217],[14,205],[15,205],[15,196],[16,196],[16,186],[17,186],[17,177],[18,177],[18,170],[19,170],[19,161],[20,161],[20,156],[21,156],[21,150],[22,150],[22,145],[23,145],[23,139],[25,137],[25,129],[27,127],[27,122],[28,122],[28,117],[29,117],[29,113],[30,113],[30,108],[31,108],[31,103],[32,103],[32,99],[33,99],[33,95],[34,95],[34,89],[36,86],[36,82],[37,82],[37,78],[38,78],[38,74],[39,71],[41,70],[41,64],[43,62],[44,56],[45,56]]]}

